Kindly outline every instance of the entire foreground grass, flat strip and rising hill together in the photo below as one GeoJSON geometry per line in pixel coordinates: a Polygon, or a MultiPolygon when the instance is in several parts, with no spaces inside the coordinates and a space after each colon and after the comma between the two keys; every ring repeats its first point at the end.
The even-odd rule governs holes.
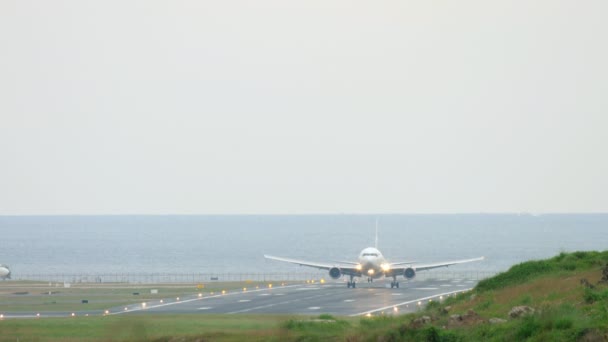
{"type": "Polygon", "coordinates": [[[146,315],[0,321],[0,341],[604,341],[608,286],[595,285],[608,252],[561,253],[513,266],[475,289],[416,314],[343,318],[281,315],[146,315]],[[594,284],[589,288],[581,279],[594,284]],[[512,307],[535,313],[511,319],[512,307]],[[451,309],[446,311],[446,307],[451,309]],[[474,311],[474,320],[451,315],[474,311]],[[430,323],[416,325],[421,316],[430,323]],[[490,318],[505,319],[499,324],[490,318]]]}

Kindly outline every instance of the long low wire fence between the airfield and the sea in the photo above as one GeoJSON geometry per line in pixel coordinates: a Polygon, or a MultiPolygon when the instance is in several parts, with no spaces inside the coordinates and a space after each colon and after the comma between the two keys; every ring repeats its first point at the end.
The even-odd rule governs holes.
{"type": "MultiPolygon", "coordinates": [[[[416,280],[468,279],[479,281],[495,275],[491,271],[424,271],[416,274],[416,280]]],[[[48,281],[61,283],[209,283],[224,281],[305,281],[330,280],[325,271],[279,273],[108,273],[108,274],[20,274],[15,280],[48,281]]],[[[347,279],[346,276],[341,278],[347,279]]],[[[404,281],[403,277],[398,277],[404,281]]],[[[338,280],[339,281],[339,280],[338,280]]]]}

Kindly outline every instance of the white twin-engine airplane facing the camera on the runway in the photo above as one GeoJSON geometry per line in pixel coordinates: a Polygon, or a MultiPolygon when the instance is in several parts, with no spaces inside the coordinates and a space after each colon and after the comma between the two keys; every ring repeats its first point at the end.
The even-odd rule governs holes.
{"type": "Polygon", "coordinates": [[[376,244],[375,247],[367,247],[359,253],[357,262],[351,261],[335,261],[335,262],[311,262],[290,258],[276,257],[272,255],[264,255],[264,258],[289,262],[300,266],[314,267],[322,270],[328,270],[329,276],[332,279],[339,279],[342,275],[350,277],[347,282],[347,288],[355,288],[355,277],[367,277],[368,282],[373,282],[374,279],[381,277],[393,278],[391,288],[399,288],[398,276],[403,276],[407,280],[412,280],[416,276],[416,272],[426,271],[433,268],[448,267],[451,265],[464,264],[468,262],[481,261],[484,257],[453,260],[431,264],[417,264],[415,261],[388,262],[382,253],[378,250],[378,227],[376,224],[376,244]]]}

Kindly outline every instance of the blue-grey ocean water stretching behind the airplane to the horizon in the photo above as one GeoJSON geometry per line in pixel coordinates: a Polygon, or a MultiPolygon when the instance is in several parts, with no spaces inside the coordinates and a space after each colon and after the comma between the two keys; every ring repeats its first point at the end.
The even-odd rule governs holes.
{"type": "MultiPolygon", "coordinates": [[[[356,260],[374,245],[389,261],[485,256],[453,270],[498,272],[561,251],[608,249],[608,214],[304,216],[0,216],[0,263],[19,274],[263,273],[356,260]]],[[[301,268],[299,268],[301,269],[301,268]]]]}

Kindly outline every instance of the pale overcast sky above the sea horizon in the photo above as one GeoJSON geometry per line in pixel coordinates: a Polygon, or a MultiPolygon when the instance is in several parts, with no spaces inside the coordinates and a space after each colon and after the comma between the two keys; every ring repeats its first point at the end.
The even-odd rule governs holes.
{"type": "Polygon", "coordinates": [[[0,0],[0,215],[607,212],[606,13],[0,0]]]}

